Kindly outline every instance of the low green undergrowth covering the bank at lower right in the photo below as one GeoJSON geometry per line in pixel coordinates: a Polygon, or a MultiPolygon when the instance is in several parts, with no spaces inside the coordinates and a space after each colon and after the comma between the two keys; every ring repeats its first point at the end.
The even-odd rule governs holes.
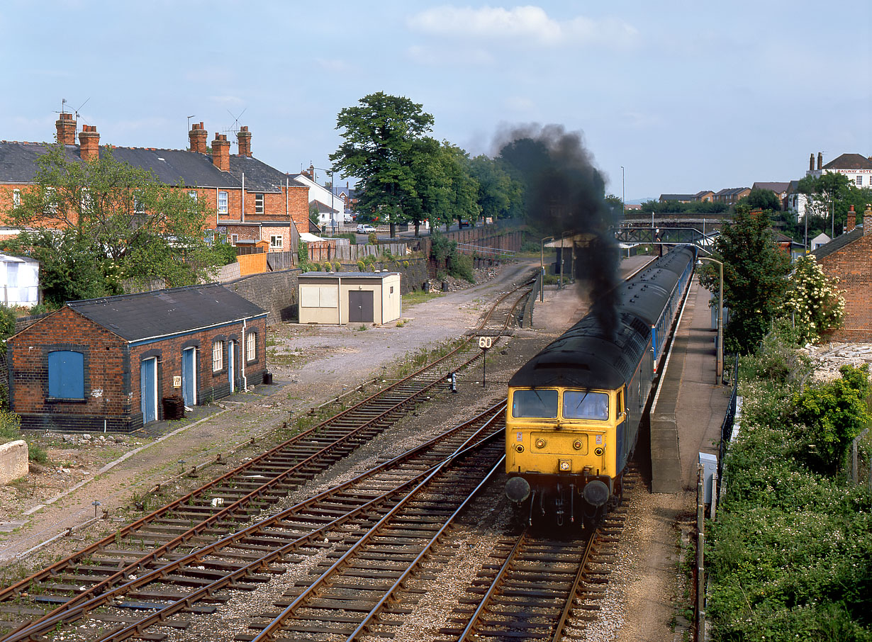
{"type": "Polygon", "coordinates": [[[739,435],[709,528],[714,640],[872,640],[872,494],[823,474],[868,422],[866,368],[808,385],[790,341],[771,333],[739,368],[739,435]],[[810,461],[809,439],[814,438],[810,461]],[[832,460],[830,460],[832,461],[832,460]]]}

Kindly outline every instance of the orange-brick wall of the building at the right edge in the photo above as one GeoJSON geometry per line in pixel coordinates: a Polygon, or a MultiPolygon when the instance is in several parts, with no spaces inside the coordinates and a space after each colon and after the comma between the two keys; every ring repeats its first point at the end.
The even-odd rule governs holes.
{"type": "Polygon", "coordinates": [[[845,322],[831,341],[872,341],[872,233],[818,260],[824,274],[845,290],[845,322]]]}

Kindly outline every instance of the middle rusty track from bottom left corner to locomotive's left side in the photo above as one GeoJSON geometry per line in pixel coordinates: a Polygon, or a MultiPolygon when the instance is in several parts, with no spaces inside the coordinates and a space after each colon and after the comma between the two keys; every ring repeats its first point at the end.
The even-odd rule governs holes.
{"type": "MultiPolygon", "coordinates": [[[[178,614],[215,614],[230,590],[252,591],[298,564],[301,555],[342,551],[350,533],[387,523],[398,507],[433,493],[434,483],[456,488],[462,478],[468,485],[481,461],[493,465],[499,459],[504,412],[505,403],[498,403],[344,483],[128,576],[124,584],[24,625],[5,639],[35,639],[47,632],[64,632],[65,639],[165,639],[161,628],[185,629],[190,624],[178,614]]],[[[422,510],[420,504],[416,510],[422,510]]]]}

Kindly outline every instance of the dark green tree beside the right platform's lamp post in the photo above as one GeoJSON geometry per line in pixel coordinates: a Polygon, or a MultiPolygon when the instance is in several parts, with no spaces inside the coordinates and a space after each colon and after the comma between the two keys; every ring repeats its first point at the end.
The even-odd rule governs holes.
{"type": "MultiPolygon", "coordinates": [[[[730,310],[724,345],[730,352],[756,348],[787,291],[790,257],[775,245],[769,214],[737,205],[732,223],[725,222],[713,244],[714,258],[724,264],[724,306],[730,310]]],[[[700,283],[717,293],[718,267],[708,264],[700,271],[700,283]]]]}

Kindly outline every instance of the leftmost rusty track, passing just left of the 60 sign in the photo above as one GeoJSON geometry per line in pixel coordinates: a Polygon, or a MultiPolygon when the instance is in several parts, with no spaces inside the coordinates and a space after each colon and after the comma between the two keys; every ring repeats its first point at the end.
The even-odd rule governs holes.
{"type": "MultiPolygon", "coordinates": [[[[14,623],[10,623],[12,631],[3,639],[30,639],[31,634],[37,635],[37,630],[47,630],[44,623],[58,625],[72,621],[72,614],[82,605],[93,610],[109,604],[114,588],[167,569],[168,564],[174,564],[189,551],[223,545],[227,537],[232,537],[225,534],[238,532],[250,516],[287,497],[405,416],[428,395],[445,389],[447,375],[480,359],[482,353],[474,341],[476,336],[489,335],[499,340],[507,333],[531,286],[532,281],[528,281],[504,294],[478,328],[435,362],[126,525],[111,537],[0,589],[0,613],[14,623]]],[[[236,558],[244,560],[246,555],[238,554],[236,558]]],[[[202,584],[202,579],[216,574],[232,575],[239,571],[236,562],[221,566],[195,569],[208,572],[199,573],[201,579],[194,584],[202,584]]],[[[198,573],[189,570],[188,575],[198,573]]],[[[146,605],[143,608],[152,608],[147,599],[143,604],[146,605]]],[[[135,609],[137,605],[128,608],[135,609]]]]}

